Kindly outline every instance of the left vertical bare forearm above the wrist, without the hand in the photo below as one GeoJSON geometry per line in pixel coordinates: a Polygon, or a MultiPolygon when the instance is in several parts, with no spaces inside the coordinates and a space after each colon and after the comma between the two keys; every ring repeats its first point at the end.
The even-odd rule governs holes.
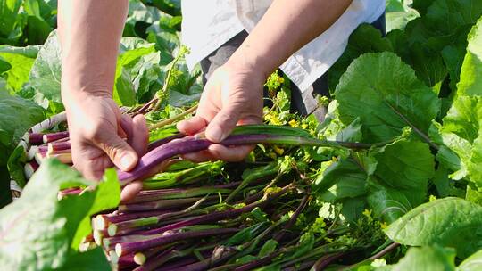
{"type": "Polygon", "coordinates": [[[112,95],[128,0],[61,0],[62,99],[112,95]]]}

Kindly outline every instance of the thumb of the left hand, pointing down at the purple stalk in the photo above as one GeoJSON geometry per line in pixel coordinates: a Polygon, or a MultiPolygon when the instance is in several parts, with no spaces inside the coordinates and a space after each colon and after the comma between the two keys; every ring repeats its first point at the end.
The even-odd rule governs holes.
{"type": "Polygon", "coordinates": [[[129,171],[137,165],[137,152],[118,135],[110,135],[104,138],[99,147],[107,153],[117,168],[129,171]]]}

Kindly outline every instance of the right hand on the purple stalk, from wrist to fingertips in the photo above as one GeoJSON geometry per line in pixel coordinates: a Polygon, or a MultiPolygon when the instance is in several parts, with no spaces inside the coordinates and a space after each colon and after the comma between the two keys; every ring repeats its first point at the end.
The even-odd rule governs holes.
{"type": "MultiPolygon", "coordinates": [[[[194,135],[205,129],[205,136],[219,143],[237,125],[262,122],[262,86],[265,78],[253,69],[228,62],[212,73],[201,96],[195,117],[179,122],[181,133],[194,135]]],[[[184,157],[193,161],[243,160],[253,146],[225,147],[212,144],[204,152],[184,157]]]]}

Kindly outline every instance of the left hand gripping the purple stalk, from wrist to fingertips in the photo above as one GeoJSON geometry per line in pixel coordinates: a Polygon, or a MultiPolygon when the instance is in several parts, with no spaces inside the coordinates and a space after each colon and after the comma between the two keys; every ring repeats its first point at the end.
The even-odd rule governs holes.
{"type": "MultiPolygon", "coordinates": [[[[104,169],[116,166],[129,171],[144,155],[148,130],[144,116],[122,115],[110,95],[76,94],[63,96],[71,136],[72,161],[87,179],[99,180],[104,169]]],[[[124,187],[121,201],[129,201],[142,188],[132,183],[124,187]]]]}

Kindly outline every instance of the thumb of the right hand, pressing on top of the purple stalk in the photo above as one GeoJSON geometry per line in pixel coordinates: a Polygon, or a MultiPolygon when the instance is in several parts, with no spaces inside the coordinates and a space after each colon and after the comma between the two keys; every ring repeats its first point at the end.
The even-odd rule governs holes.
{"type": "Polygon", "coordinates": [[[236,127],[240,115],[240,109],[236,104],[224,106],[206,127],[206,138],[215,143],[221,142],[236,127]]]}

